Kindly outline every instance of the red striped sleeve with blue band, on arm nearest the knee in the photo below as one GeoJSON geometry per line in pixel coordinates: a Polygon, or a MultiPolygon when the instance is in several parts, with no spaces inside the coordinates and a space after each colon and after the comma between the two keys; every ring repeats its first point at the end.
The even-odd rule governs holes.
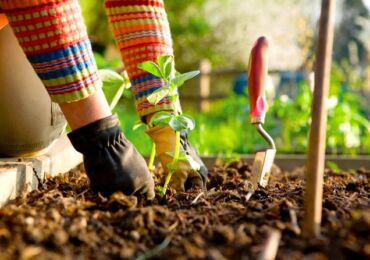
{"type": "Polygon", "coordinates": [[[101,87],[77,0],[0,0],[0,7],[52,101],[77,101],[101,87]]]}

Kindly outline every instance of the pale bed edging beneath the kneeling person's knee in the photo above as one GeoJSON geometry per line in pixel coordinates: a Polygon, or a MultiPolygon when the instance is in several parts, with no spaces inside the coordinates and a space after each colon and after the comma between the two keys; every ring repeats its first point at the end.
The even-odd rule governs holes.
{"type": "Polygon", "coordinates": [[[68,172],[82,162],[66,135],[48,153],[37,157],[0,158],[0,207],[24,190],[36,189],[40,181],[68,172]]]}

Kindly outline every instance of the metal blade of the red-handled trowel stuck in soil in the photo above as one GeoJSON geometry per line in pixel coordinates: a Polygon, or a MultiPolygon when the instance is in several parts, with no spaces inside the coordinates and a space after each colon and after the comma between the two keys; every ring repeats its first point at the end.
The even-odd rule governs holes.
{"type": "Polygon", "coordinates": [[[257,152],[252,166],[252,185],[257,188],[258,185],[265,188],[268,184],[271,167],[274,163],[276,150],[267,149],[257,152]]]}

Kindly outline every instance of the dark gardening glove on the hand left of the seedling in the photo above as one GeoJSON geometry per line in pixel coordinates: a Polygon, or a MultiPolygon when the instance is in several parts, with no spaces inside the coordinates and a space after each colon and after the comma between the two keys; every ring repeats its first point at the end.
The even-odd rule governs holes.
{"type": "Polygon", "coordinates": [[[123,135],[116,115],[76,129],[68,137],[83,154],[94,191],[104,195],[122,191],[154,198],[154,181],[146,162],[123,135]]]}

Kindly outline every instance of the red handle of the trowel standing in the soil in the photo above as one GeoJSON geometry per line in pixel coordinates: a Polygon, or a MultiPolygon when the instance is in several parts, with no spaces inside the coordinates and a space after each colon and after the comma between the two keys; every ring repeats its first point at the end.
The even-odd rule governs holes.
{"type": "Polygon", "coordinates": [[[249,58],[248,94],[252,124],[263,124],[267,111],[265,84],[268,73],[268,47],[269,43],[265,37],[258,38],[249,58]]]}

